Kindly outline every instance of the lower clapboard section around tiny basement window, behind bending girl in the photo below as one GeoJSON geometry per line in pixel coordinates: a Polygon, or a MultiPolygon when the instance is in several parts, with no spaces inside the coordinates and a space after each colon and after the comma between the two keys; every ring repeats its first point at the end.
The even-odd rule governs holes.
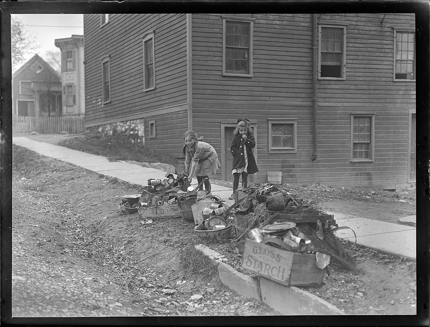
{"type": "Polygon", "coordinates": [[[183,135],[188,127],[187,110],[145,118],[145,147],[183,158],[183,135]],[[156,138],[149,137],[149,122],[155,120],[156,138]]]}

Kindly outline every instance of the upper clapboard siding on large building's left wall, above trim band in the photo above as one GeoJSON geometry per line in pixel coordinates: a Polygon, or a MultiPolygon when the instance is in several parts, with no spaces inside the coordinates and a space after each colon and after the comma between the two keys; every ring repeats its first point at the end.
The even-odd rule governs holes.
{"type": "Polygon", "coordinates": [[[187,103],[185,14],[84,14],[86,123],[187,103]],[[142,37],[154,31],[156,88],[143,92],[142,37]],[[111,102],[102,104],[101,58],[110,55],[111,102]]]}

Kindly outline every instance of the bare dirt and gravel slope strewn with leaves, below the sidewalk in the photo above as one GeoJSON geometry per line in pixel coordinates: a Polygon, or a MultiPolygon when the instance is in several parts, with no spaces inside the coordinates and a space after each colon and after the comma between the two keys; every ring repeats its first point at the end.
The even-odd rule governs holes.
{"type": "Polygon", "coordinates": [[[182,269],[192,223],[120,215],[140,186],[15,146],[12,166],[12,316],[276,314],[182,269]]]}

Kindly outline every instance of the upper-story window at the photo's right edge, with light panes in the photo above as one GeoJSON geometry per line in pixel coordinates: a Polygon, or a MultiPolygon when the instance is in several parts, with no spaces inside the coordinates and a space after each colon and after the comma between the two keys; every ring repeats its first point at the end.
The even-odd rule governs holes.
{"type": "Polygon", "coordinates": [[[415,29],[394,28],[394,80],[415,81],[415,29]]]}

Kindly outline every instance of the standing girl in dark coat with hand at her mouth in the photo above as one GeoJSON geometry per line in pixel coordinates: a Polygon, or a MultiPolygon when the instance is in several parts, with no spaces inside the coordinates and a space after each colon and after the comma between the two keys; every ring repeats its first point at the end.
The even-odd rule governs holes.
{"type": "Polygon", "coordinates": [[[252,148],[255,147],[255,138],[252,135],[251,122],[249,119],[237,119],[237,127],[233,132],[230,151],[233,155],[234,176],[233,194],[230,200],[234,199],[234,191],[239,187],[239,177],[242,175],[242,189],[248,186],[248,175],[256,174],[258,171],[252,148]]]}

